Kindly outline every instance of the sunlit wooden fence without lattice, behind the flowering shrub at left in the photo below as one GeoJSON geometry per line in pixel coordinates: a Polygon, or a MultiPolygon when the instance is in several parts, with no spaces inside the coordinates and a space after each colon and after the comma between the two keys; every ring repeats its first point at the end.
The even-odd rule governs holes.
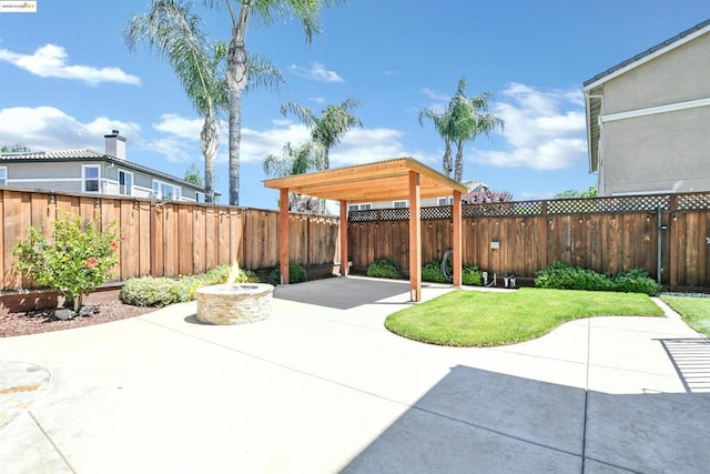
{"type": "MultiPolygon", "coordinates": [[[[32,286],[17,271],[12,248],[26,239],[30,225],[49,236],[61,211],[119,224],[116,281],[202,273],[234,261],[255,271],[278,264],[277,211],[2,189],[0,290],[32,286]]],[[[333,265],[339,254],[338,219],[294,213],[288,230],[292,261],[306,269],[333,265]]]]}

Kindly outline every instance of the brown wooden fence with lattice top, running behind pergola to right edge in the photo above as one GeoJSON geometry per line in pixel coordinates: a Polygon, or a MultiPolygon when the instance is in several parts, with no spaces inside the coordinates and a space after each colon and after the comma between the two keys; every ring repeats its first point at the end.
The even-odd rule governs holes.
{"type": "MultiPolygon", "coordinates": [[[[560,261],[605,273],[642,268],[655,279],[660,269],[661,282],[672,289],[710,288],[710,193],[463,208],[463,261],[488,272],[534,278],[560,261]]],[[[452,248],[450,212],[450,206],[422,209],[424,263],[452,248]]],[[[408,209],[351,212],[353,270],[392,256],[406,271],[408,219],[408,209]]]]}

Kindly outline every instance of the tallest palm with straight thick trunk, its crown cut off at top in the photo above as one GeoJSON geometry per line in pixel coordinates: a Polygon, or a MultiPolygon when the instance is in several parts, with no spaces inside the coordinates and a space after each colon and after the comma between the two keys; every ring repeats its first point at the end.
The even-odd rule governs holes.
{"type": "Polygon", "coordinates": [[[242,95],[250,74],[246,53],[246,31],[252,14],[265,24],[275,17],[296,18],[303,24],[306,41],[320,31],[318,12],[323,6],[338,0],[204,0],[209,7],[224,4],[232,18],[232,39],[227,53],[230,90],[230,204],[240,203],[240,144],[242,140],[242,95]],[[237,10],[239,9],[239,10],[237,10]]]}

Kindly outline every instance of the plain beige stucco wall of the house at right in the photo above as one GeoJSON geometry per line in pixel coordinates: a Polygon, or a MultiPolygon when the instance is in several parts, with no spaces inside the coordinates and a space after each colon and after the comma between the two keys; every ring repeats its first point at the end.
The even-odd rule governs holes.
{"type": "MultiPolygon", "coordinates": [[[[709,64],[704,34],[627,71],[604,84],[602,118],[708,99],[709,64]]],[[[710,190],[710,105],[601,127],[600,195],[710,190]]]]}

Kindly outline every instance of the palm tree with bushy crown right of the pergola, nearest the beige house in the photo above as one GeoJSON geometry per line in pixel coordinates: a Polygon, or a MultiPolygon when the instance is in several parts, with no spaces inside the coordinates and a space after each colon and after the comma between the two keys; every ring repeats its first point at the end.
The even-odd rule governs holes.
{"type": "Polygon", "coordinates": [[[449,138],[456,143],[454,179],[458,182],[464,179],[464,145],[466,142],[474,141],[480,133],[488,135],[493,130],[503,130],[504,128],[504,121],[500,117],[488,113],[488,104],[491,100],[490,92],[467,97],[466,78],[462,77],[458,80],[458,90],[447,108],[449,138]]]}

